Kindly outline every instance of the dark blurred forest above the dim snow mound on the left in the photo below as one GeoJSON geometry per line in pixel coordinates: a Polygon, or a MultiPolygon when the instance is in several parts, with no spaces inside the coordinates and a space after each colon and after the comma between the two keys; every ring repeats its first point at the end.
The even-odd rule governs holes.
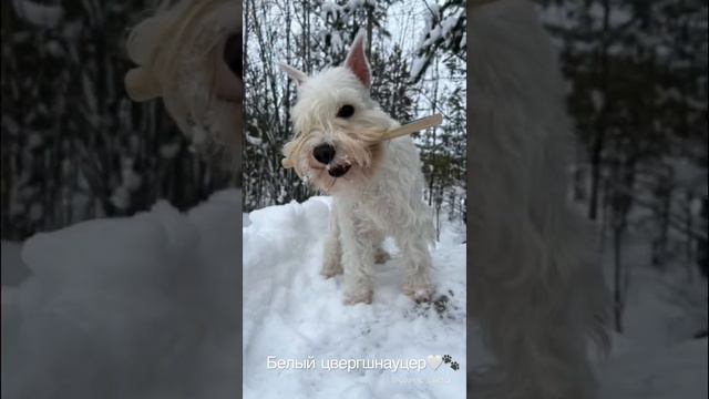
{"type": "Polygon", "coordinates": [[[192,150],[162,101],[126,96],[129,30],[158,3],[2,2],[3,241],[157,200],[187,209],[235,185],[217,157],[192,150]]]}

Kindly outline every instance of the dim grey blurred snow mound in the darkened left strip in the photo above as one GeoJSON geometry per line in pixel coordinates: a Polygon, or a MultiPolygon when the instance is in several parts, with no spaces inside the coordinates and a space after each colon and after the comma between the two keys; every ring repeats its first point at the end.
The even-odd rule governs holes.
{"type": "Polygon", "coordinates": [[[240,192],[25,242],[2,287],[3,398],[232,398],[240,192]]]}

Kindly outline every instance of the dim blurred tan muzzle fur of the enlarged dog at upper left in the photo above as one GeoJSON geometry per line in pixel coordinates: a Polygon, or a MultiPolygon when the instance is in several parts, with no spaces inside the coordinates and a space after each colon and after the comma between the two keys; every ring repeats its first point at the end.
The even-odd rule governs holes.
{"type": "Polygon", "coordinates": [[[162,96],[195,147],[228,149],[238,157],[242,81],[224,54],[228,39],[240,32],[236,1],[163,1],[131,31],[126,49],[138,66],[125,76],[129,95],[162,96]]]}

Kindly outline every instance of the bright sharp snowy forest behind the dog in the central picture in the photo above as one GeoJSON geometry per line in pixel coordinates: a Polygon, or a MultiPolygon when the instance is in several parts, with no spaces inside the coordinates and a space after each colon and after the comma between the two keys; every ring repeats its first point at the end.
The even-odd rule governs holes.
{"type": "MultiPolygon", "coordinates": [[[[418,133],[427,201],[436,218],[465,214],[464,1],[255,1],[244,3],[246,48],[244,212],[315,194],[281,167],[292,136],[296,86],[284,61],[314,73],[345,60],[359,29],[368,34],[372,98],[400,123],[443,114],[418,133]],[[274,29],[279,25],[282,29],[274,29]]],[[[439,223],[440,224],[440,223],[439,223]]]]}

